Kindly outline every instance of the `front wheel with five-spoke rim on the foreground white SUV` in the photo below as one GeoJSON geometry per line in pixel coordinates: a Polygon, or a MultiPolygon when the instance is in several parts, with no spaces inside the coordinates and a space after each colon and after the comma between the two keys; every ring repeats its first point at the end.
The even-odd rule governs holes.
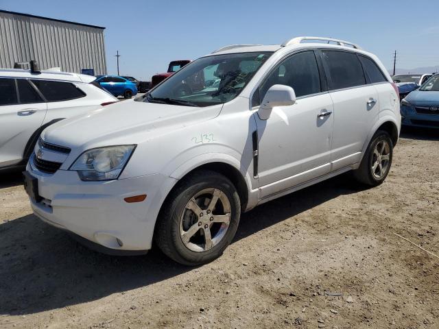
{"type": "Polygon", "coordinates": [[[214,171],[197,171],[180,181],[167,197],[154,240],[163,254],[177,263],[206,264],[221,256],[230,244],[240,215],[233,183],[214,171]],[[213,195],[216,201],[211,205],[213,195]]]}

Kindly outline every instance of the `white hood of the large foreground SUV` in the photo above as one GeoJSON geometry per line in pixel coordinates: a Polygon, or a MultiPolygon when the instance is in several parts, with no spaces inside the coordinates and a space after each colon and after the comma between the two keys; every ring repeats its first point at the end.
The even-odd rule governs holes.
{"type": "Polygon", "coordinates": [[[47,143],[75,149],[138,144],[193,123],[216,117],[222,105],[206,108],[142,101],[120,101],[87,114],[58,121],[41,138],[47,143]]]}

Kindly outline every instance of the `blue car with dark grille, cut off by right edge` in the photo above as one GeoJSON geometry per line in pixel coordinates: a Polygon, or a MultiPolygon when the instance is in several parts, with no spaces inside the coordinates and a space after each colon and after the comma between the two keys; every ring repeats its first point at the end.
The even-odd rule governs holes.
{"type": "Polygon", "coordinates": [[[403,125],[439,128],[439,74],[401,101],[403,125]]]}

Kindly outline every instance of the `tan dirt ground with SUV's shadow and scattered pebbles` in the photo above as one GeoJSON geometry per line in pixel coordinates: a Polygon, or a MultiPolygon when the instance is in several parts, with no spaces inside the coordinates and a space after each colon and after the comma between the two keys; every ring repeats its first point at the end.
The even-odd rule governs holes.
{"type": "Polygon", "coordinates": [[[439,328],[439,133],[404,132],[388,179],[349,175],[242,215],[209,265],[92,252],[0,176],[0,328],[439,328]],[[338,296],[337,296],[338,295],[338,296]]]}

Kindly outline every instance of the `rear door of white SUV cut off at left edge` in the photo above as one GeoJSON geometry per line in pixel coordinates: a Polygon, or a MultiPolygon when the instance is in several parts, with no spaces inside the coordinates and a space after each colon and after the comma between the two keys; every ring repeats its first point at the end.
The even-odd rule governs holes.
{"type": "Polygon", "coordinates": [[[43,123],[46,103],[26,79],[0,77],[0,168],[19,164],[43,123]]]}

